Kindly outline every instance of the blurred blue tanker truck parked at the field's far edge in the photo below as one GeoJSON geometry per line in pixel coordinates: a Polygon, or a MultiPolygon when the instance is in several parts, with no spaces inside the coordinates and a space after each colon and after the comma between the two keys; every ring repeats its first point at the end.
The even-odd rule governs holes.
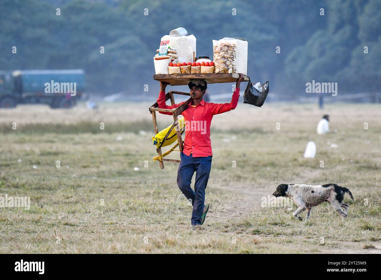
{"type": "Polygon", "coordinates": [[[0,108],[18,104],[71,108],[84,90],[82,69],[0,71],[0,108]]]}

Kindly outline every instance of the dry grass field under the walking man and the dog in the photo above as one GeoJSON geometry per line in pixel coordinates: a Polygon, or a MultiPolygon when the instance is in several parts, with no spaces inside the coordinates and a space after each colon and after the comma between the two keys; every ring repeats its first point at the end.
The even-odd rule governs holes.
{"type": "MultiPolygon", "coordinates": [[[[154,99],[0,110],[0,197],[30,197],[29,211],[0,208],[0,253],[381,252],[379,105],[257,108],[241,96],[237,109],[213,118],[211,208],[202,229],[191,230],[178,163],[160,170],[152,161],[154,99]],[[326,113],[335,133],[317,135],[326,113]],[[317,145],[313,159],[303,158],[308,141],[317,145]],[[324,203],[304,224],[286,207],[261,207],[281,183],[337,183],[355,202],[345,196],[346,220],[324,203]]],[[[162,129],[171,116],[158,122],[162,129]]]]}

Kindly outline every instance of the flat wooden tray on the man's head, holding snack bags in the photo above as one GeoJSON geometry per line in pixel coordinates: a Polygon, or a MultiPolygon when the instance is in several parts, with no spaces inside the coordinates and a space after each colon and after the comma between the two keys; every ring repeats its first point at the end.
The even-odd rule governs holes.
{"type": "MultiPolygon", "coordinates": [[[[249,77],[244,75],[243,82],[248,82],[249,77]]],[[[236,73],[207,73],[207,74],[160,74],[154,75],[154,80],[169,83],[171,86],[188,85],[190,79],[203,79],[210,83],[235,83],[239,79],[236,73]]]]}

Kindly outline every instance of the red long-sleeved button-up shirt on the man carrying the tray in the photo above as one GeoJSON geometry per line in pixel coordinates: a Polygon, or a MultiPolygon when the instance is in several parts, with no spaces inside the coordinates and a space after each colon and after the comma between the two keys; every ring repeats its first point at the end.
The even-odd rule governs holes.
{"type": "MultiPolygon", "coordinates": [[[[188,108],[181,113],[184,117],[185,125],[184,154],[189,156],[192,153],[193,157],[208,157],[213,155],[210,141],[211,120],[214,115],[234,110],[237,107],[238,98],[239,88],[236,88],[230,103],[216,104],[202,100],[196,107],[192,107],[193,100],[189,102],[188,108]]],[[[177,108],[184,102],[167,106],[165,104],[165,91],[160,91],[157,98],[157,104],[161,109],[177,108]]],[[[170,112],[160,113],[172,115],[170,112]]]]}

